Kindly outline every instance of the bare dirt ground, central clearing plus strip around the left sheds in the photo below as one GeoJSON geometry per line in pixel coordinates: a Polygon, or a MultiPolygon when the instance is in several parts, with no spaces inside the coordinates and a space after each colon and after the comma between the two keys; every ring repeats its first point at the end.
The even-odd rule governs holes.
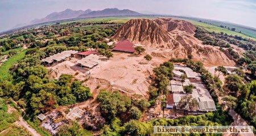
{"type": "Polygon", "coordinates": [[[101,88],[113,88],[128,95],[138,94],[147,97],[148,86],[150,86],[148,77],[152,74],[152,69],[163,63],[163,60],[153,57],[151,61],[147,62],[143,58],[144,54],[120,52],[113,52],[113,54],[113,58],[100,61],[99,65],[90,70],[76,66],[77,58],[56,63],[47,69],[51,78],[54,79],[59,78],[61,74],[71,74],[76,79],[86,80],[84,84],[90,87],[94,96],[98,93],[93,90],[97,86],[103,86],[101,88]],[[90,73],[89,76],[87,76],[88,73],[90,73]]]}

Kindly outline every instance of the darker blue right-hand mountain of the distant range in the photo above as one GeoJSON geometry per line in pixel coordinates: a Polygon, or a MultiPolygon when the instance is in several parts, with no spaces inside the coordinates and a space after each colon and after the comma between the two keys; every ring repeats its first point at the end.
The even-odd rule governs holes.
{"type": "Polygon", "coordinates": [[[82,14],[79,18],[98,17],[98,16],[132,16],[143,15],[139,12],[131,10],[118,10],[118,8],[106,8],[104,10],[92,11],[87,14],[82,14]]]}

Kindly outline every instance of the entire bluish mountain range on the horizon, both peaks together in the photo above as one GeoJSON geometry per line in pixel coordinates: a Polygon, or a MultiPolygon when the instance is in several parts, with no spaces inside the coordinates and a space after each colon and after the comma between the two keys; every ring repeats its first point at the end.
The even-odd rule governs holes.
{"type": "Polygon", "coordinates": [[[88,10],[71,10],[67,9],[60,12],[52,12],[42,19],[34,19],[30,23],[37,24],[43,22],[50,22],[55,20],[62,19],[71,19],[71,18],[90,18],[90,17],[104,17],[104,16],[134,16],[134,15],[142,15],[139,12],[131,11],[131,10],[119,10],[118,8],[106,8],[104,10],[92,11],[88,10]]]}

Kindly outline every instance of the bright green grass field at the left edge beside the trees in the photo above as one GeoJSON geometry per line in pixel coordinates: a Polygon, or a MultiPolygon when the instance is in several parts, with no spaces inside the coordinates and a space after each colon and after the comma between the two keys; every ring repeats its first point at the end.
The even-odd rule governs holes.
{"type": "Polygon", "coordinates": [[[11,75],[9,73],[9,69],[17,63],[19,60],[25,57],[26,50],[19,52],[13,57],[8,58],[6,62],[3,62],[0,66],[0,81],[1,80],[11,80],[11,75]]]}

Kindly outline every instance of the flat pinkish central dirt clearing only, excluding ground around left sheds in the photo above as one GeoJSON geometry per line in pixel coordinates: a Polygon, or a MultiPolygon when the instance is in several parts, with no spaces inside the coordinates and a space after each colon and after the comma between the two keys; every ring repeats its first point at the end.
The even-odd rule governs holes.
{"type": "Polygon", "coordinates": [[[150,86],[148,77],[152,74],[153,67],[162,61],[153,58],[147,62],[143,58],[144,55],[117,52],[113,54],[114,57],[109,61],[102,62],[90,70],[90,76],[108,80],[114,88],[127,94],[146,97],[148,86],[150,86]]]}

